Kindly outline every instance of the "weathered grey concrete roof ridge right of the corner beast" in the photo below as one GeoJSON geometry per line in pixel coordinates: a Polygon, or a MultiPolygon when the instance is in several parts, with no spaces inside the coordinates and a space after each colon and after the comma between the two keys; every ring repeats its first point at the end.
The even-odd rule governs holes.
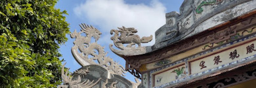
{"type": "Polygon", "coordinates": [[[166,24],[155,32],[156,43],[146,47],[146,52],[164,48],[256,9],[256,0],[218,0],[203,5],[203,11],[197,13],[203,1],[184,0],[180,14],[175,11],[166,13],[166,24]]]}

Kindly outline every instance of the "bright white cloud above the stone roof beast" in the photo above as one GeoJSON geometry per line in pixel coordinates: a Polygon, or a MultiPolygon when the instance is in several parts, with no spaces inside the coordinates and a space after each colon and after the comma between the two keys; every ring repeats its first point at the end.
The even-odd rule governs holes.
{"type": "MultiPolygon", "coordinates": [[[[165,10],[158,0],[152,0],[149,6],[127,4],[123,0],[87,0],[74,8],[75,14],[81,19],[100,27],[98,29],[104,33],[102,37],[109,37],[109,40],[103,39],[106,43],[110,41],[110,30],[121,26],[134,27],[140,37],[154,36],[155,31],[165,24],[165,10]]],[[[153,39],[146,45],[154,43],[153,39]]]]}

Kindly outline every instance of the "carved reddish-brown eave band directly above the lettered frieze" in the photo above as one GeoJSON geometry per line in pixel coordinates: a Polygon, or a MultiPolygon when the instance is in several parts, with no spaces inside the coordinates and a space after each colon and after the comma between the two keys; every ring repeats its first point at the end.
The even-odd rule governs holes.
{"type": "Polygon", "coordinates": [[[124,57],[126,60],[126,70],[127,69],[136,69],[139,68],[142,64],[148,64],[152,62],[156,62],[162,60],[164,58],[169,58],[172,55],[175,55],[179,52],[191,49],[193,47],[197,47],[206,43],[220,43],[222,41],[228,41],[232,36],[237,35],[237,31],[244,30],[253,24],[256,24],[255,20],[256,15],[252,15],[246,19],[238,20],[226,27],[222,27],[219,30],[212,30],[211,32],[204,33],[201,36],[195,38],[187,38],[184,41],[181,41],[177,44],[172,44],[172,46],[168,46],[165,49],[154,51],[154,53],[150,53],[150,55],[142,55],[140,59],[138,56],[129,56],[124,57]]]}

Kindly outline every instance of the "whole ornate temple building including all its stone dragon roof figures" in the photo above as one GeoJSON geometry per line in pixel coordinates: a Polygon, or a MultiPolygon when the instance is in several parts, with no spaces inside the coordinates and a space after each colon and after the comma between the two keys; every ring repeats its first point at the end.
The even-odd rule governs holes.
{"type": "Polygon", "coordinates": [[[109,48],[125,67],[96,43],[99,30],[80,26],[71,51],[83,67],[68,74],[63,66],[60,88],[256,88],[256,0],[184,0],[180,13],[166,13],[152,46],[141,46],[153,36],[136,28],[110,30],[109,48]]]}

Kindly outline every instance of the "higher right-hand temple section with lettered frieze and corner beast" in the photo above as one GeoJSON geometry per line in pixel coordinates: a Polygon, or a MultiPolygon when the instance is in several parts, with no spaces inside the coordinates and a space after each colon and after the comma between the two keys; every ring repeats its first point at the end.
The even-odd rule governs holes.
{"type": "Polygon", "coordinates": [[[142,88],[255,88],[256,0],[184,0],[152,40],[111,30],[110,49],[142,88]]]}

